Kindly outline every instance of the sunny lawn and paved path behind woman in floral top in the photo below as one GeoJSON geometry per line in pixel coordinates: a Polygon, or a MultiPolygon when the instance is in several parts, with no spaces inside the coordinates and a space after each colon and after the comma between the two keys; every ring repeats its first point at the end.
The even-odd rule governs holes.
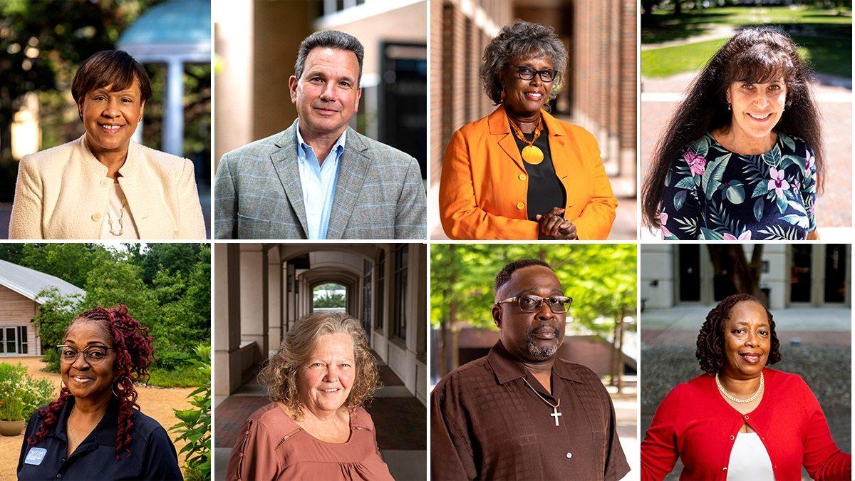
{"type": "MultiPolygon", "coordinates": [[[[641,0],[641,179],[676,104],[716,51],[741,28],[782,27],[816,70],[823,122],[823,240],[852,238],[852,2],[850,0],[641,0]]],[[[641,229],[642,240],[660,239],[641,229]]]]}

